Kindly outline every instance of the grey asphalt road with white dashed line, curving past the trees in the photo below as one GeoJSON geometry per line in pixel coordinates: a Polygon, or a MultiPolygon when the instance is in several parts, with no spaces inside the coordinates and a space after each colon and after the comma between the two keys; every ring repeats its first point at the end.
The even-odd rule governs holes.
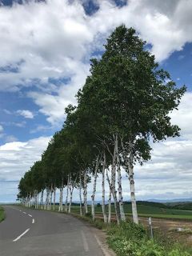
{"type": "Polygon", "coordinates": [[[103,256],[85,223],[67,214],[4,206],[0,256],[103,256]]]}

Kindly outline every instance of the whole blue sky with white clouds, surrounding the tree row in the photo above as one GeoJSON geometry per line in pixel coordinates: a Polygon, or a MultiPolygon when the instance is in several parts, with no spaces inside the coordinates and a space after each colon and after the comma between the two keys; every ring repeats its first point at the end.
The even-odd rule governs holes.
{"type": "Polygon", "coordinates": [[[190,197],[192,2],[0,2],[0,202],[15,200],[18,180],[62,127],[65,107],[76,103],[90,58],[122,23],[134,26],[178,86],[187,86],[171,114],[182,136],[154,145],[152,161],[136,167],[138,198],[190,197]]]}

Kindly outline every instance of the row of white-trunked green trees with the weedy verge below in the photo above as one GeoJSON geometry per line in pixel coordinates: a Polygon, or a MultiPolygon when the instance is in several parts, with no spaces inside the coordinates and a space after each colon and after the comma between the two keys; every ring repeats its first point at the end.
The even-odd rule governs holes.
{"type": "MultiPolygon", "coordinates": [[[[177,110],[185,91],[185,86],[176,86],[170,74],[159,68],[134,29],[119,26],[107,39],[102,57],[90,60],[90,75],[76,95],[78,105],[66,108],[62,130],[54,134],[42,159],[21,178],[18,200],[36,209],[71,213],[75,188],[78,214],[107,227],[108,242],[118,255],[164,255],[164,246],[150,241],[138,225],[134,165],[150,159],[150,140],[179,136],[180,129],[171,124],[169,114],[177,110]],[[131,204],[123,203],[122,169],[131,204]],[[102,221],[96,219],[98,176],[102,180],[98,206],[102,221]],[[92,185],[90,210],[88,183],[92,185]],[[134,223],[126,222],[128,214],[134,223]],[[118,226],[110,226],[112,221],[118,226]]],[[[142,206],[142,214],[147,216],[150,207],[142,206]]],[[[170,215],[173,211],[168,208],[151,207],[150,214],[170,215]]],[[[175,254],[171,250],[165,255],[180,255],[178,249],[175,254]]]]}

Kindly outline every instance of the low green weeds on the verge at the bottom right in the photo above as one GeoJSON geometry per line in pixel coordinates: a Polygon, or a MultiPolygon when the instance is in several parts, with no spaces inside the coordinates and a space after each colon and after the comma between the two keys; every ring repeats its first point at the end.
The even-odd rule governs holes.
{"type": "MultiPolygon", "coordinates": [[[[107,230],[107,242],[118,256],[190,256],[190,248],[181,244],[162,242],[162,238],[155,235],[149,239],[142,225],[133,222],[123,222],[120,226],[112,225],[107,230]]],[[[169,239],[169,238],[163,238],[169,239]]]]}

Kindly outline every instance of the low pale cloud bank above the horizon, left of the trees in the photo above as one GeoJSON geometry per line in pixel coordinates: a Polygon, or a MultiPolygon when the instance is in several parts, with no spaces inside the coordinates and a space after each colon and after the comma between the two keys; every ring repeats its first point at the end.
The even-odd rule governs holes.
{"type": "Polygon", "coordinates": [[[15,201],[18,181],[35,161],[41,159],[49,141],[50,137],[40,137],[0,146],[0,202],[15,201]]]}

